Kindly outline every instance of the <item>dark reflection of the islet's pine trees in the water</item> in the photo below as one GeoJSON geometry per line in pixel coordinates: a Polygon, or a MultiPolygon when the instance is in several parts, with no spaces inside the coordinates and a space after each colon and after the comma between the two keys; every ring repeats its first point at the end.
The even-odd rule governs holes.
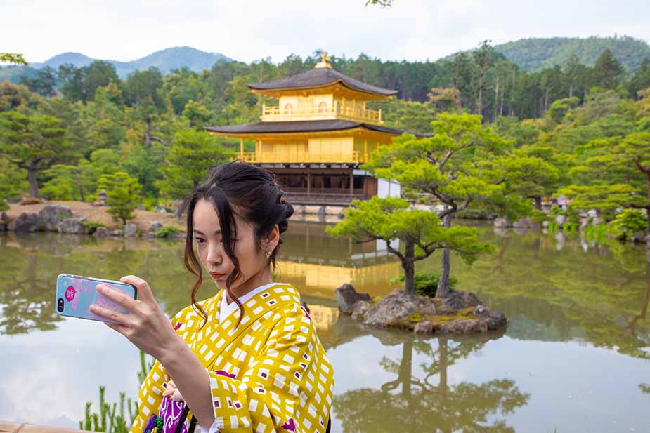
{"type": "MultiPolygon", "coordinates": [[[[495,337],[495,336],[493,336],[495,337]]],[[[478,352],[489,338],[415,340],[403,336],[401,357],[377,368],[395,376],[379,389],[353,389],[334,398],[346,432],[514,432],[500,418],[525,406],[529,395],[513,380],[448,383],[448,368],[478,352]],[[414,374],[413,352],[422,375],[414,374]]]]}

